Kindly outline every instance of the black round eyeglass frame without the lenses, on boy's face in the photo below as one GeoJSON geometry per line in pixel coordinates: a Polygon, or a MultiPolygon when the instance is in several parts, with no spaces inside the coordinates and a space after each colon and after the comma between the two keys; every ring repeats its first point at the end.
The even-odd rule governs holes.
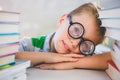
{"type": "Polygon", "coordinates": [[[81,50],[80,50],[80,46],[81,46],[81,44],[83,43],[83,42],[85,42],[85,41],[90,41],[90,42],[92,42],[93,43],[93,46],[94,46],[94,49],[93,49],[93,51],[90,53],[90,54],[84,54],[84,53],[82,53],[81,52],[81,54],[82,55],[85,55],[85,56],[92,56],[93,54],[95,54],[94,53],[94,51],[95,51],[95,43],[93,42],[93,41],[91,41],[91,40],[88,40],[88,39],[85,39],[85,38],[83,38],[83,35],[84,35],[84,32],[85,32],[85,29],[84,29],[84,26],[81,24],[81,23],[79,23],[79,22],[72,22],[72,17],[70,16],[70,15],[68,15],[68,20],[69,20],[69,27],[68,27],[68,34],[69,34],[69,36],[70,37],[72,37],[73,39],[81,39],[81,41],[79,42],[79,51],[81,52],[81,50]],[[78,37],[78,38],[75,38],[75,37],[73,37],[71,34],[70,34],[70,32],[69,32],[69,29],[70,29],[70,27],[71,27],[71,25],[73,25],[73,24],[79,24],[80,26],[82,26],[82,28],[83,28],[83,33],[82,33],[82,35],[80,36],[80,37],[78,37]]]}

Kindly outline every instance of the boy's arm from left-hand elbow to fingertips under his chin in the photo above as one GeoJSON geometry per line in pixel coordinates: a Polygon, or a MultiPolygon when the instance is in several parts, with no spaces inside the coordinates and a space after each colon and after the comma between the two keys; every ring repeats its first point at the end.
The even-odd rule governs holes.
{"type": "Polygon", "coordinates": [[[32,65],[40,63],[57,63],[66,61],[78,61],[76,57],[83,57],[77,54],[57,54],[52,52],[18,52],[16,59],[30,60],[32,65]]]}

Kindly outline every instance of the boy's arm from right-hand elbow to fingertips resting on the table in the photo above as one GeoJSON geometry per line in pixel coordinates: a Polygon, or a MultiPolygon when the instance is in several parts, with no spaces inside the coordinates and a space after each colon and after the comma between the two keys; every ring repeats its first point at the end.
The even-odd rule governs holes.
{"type": "Polygon", "coordinates": [[[104,54],[97,54],[94,56],[87,56],[79,58],[76,62],[63,62],[55,64],[42,64],[36,66],[41,69],[74,69],[74,68],[84,68],[84,69],[102,69],[108,68],[107,60],[111,59],[110,52],[104,54]]]}

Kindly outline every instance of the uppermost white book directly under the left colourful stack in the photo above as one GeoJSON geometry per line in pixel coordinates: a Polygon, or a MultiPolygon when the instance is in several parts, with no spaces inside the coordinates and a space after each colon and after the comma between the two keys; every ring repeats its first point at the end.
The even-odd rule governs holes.
{"type": "Polygon", "coordinates": [[[16,60],[16,64],[10,68],[0,70],[0,80],[5,80],[6,77],[12,76],[22,72],[25,73],[26,69],[30,66],[29,60],[16,60]]]}

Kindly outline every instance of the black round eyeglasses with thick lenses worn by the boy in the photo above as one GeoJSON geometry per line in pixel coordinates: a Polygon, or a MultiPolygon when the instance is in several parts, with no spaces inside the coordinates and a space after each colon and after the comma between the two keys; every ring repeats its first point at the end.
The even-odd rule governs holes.
{"type": "Polygon", "coordinates": [[[83,34],[85,32],[84,26],[78,22],[72,22],[72,18],[69,15],[68,20],[70,26],[68,28],[68,34],[74,39],[81,39],[79,42],[79,50],[81,54],[88,56],[93,55],[95,50],[95,44],[91,40],[87,40],[83,38],[83,34]]]}

